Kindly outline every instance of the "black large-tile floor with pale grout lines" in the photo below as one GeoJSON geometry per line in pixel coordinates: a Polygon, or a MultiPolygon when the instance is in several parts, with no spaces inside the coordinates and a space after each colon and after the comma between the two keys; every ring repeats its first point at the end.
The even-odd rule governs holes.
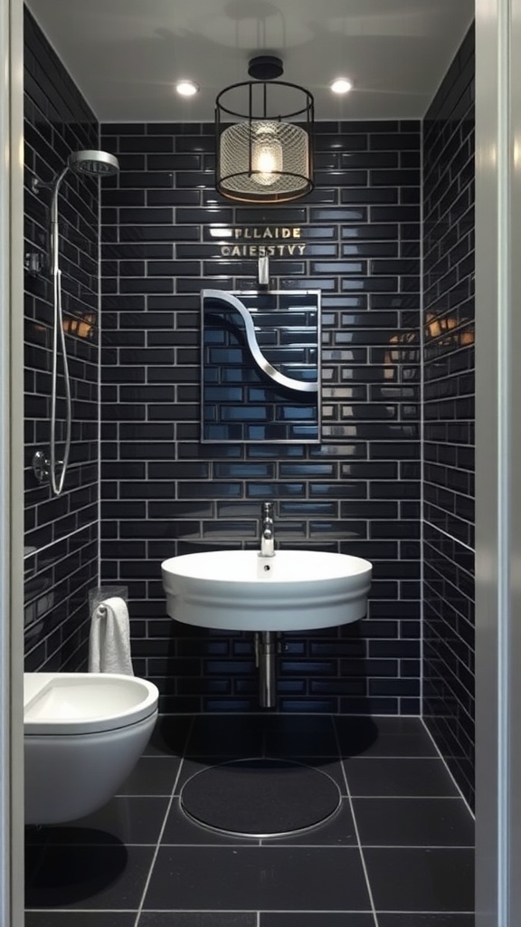
{"type": "MultiPolygon", "coordinates": [[[[93,770],[95,774],[95,770],[93,770]]],[[[473,927],[473,819],[415,717],[162,717],[108,805],[27,829],[27,927],[473,927]],[[337,814],[268,839],[187,819],[180,792],[246,756],[307,763],[337,814]]]]}

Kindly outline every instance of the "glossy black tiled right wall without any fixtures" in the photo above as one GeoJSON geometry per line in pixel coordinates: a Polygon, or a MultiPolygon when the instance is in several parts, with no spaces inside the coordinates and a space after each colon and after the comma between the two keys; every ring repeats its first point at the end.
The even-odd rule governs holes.
{"type": "Polygon", "coordinates": [[[474,794],[474,32],[424,134],[426,723],[474,794]]]}

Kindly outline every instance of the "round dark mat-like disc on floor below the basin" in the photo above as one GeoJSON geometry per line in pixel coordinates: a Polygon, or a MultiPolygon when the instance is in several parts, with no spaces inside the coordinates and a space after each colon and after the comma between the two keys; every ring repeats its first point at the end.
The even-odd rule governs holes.
{"type": "Polygon", "coordinates": [[[181,807],[197,824],[244,837],[306,831],[335,814],[340,801],[330,776],[284,759],[221,763],[197,772],[181,792],[181,807]]]}

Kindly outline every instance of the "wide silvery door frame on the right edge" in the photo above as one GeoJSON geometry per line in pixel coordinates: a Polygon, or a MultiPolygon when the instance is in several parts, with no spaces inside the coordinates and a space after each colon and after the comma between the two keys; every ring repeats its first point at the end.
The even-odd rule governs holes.
{"type": "Polygon", "coordinates": [[[477,927],[521,923],[521,0],[477,0],[477,927]]]}

